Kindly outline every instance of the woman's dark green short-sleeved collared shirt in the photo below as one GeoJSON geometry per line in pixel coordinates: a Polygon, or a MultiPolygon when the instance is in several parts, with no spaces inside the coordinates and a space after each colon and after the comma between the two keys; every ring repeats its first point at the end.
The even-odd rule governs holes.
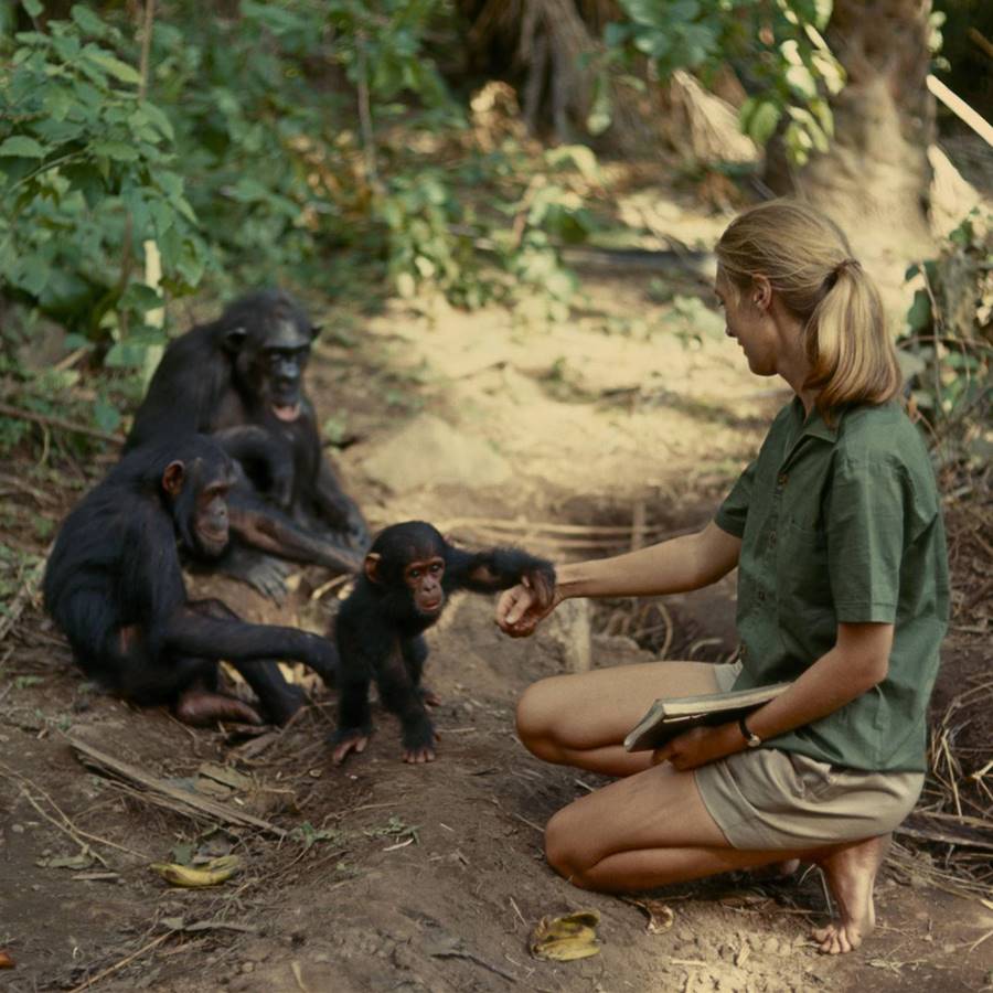
{"type": "Polygon", "coordinates": [[[840,621],[895,626],[882,683],[769,744],[854,769],[923,771],[948,558],[935,473],[900,407],[854,407],[829,426],[794,398],[716,523],[741,538],[736,688],[794,679],[834,647],[840,621]]]}

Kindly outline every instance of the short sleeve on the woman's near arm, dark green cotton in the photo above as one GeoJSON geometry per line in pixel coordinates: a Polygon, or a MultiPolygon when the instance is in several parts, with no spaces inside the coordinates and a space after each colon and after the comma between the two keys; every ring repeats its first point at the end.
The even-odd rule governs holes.
{"type": "Polygon", "coordinates": [[[898,461],[840,459],[825,508],[828,563],[837,620],[896,620],[905,522],[914,493],[898,461]]]}

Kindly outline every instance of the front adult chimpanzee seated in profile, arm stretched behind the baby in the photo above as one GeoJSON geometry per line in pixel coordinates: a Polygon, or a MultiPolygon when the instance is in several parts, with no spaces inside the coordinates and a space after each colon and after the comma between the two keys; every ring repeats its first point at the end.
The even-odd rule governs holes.
{"type": "Polygon", "coordinates": [[[277,723],[303,695],[275,659],[303,662],[325,680],[337,668],[325,638],[245,623],[220,600],[188,600],[180,551],[224,551],[234,478],[231,458],[203,435],[137,448],[68,515],[45,572],[45,607],[81,669],[138,704],[171,704],[190,724],[259,720],[218,692],[220,659],[277,723]]]}

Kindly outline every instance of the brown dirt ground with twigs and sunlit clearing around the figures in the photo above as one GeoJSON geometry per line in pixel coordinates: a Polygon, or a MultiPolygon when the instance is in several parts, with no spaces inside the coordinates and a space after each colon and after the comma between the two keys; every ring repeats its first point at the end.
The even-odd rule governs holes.
{"type": "MultiPolygon", "coordinates": [[[[709,223],[700,221],[704,241],[709,223]]],[[[552,329],[523,312],[511,320],[395,303],[343,317],[313,301],[325,328],[346,327],[354,339],[344,346],[325,333],[310,383],[324,417],[345,412],[355,440],[339,461],[372,522],[423,516],[466,541],[513,538],[560,559],[630,547],[632,525],[652,540],[705,522],[787,397],[749,375],[715,314],[686,310],[692,280],[673,279],[586,273],[577,319],[552,329]],[[674,301],[658,302],[660,280],[674,301]],[[377,453],[425,417],[457,434],[463,460],[451,470],[444,450],[402,444],[387,487],[377,453]]],[[[57,520],[75,494],[32,495],[39,471],[11,467],[23,482],[4,485],[4,500],[57,520]]],[[[234,584],[225,596],[256,619],[321,630],[340,592],[324,578],[300,575],[278,609],[234,584]]],[[[975,700],[989,683],[989,597],[965,606],[946,647],[936,719],[963,690],[975,700]]],[[[664,609],[598,605],[592,664],[650,658],[630,636],[666,658],[720,661],[734,650],[733,621],[730,581],[669,598],[664,609]]],[[[429,636],[427,680],[444,700],[438,760],[405,766],[396,723],[377,709],[370,749],[335,769],[325,743],[334,697],[323,687],[309,684],[313,706],[281,732],[190,729],[86,684],[30,604],[0,644],[0,950],[15,962],[0,971],[0,989],[993,989],[993,894],[957,874],[989,862],[989,850],[914,847],[899,836],[878,887],[877,932],[839,959],[807,939],[829,909],[815,871],[775,884],[717,877],[641,905],[581,893],[552,873],[542,825],[598,782],[531,758],[513,707],[534,680],[578,664],[584,623],[579,611],[511,641],[494,628],[489,598],[461,598],[429,636]],[[84,765],[74,743],[168,780],[174,793],[84,765]],[[175,799],[189,790],[264,823],[194,815],[175,799]],[[242,871],[209,889],[170,887],[149,867],[227,853],[242,871]],[[542,917],[585,908],[600,914],[599,954],[532,958],[542,917]]],[[[963,776],[991,758],[986,713],[965,716],[963,776]]],[[[978,800],[960,800],[976,814],[978,800]]],[[[933,783],[922,804],[942,807],[933,783]]]]}

